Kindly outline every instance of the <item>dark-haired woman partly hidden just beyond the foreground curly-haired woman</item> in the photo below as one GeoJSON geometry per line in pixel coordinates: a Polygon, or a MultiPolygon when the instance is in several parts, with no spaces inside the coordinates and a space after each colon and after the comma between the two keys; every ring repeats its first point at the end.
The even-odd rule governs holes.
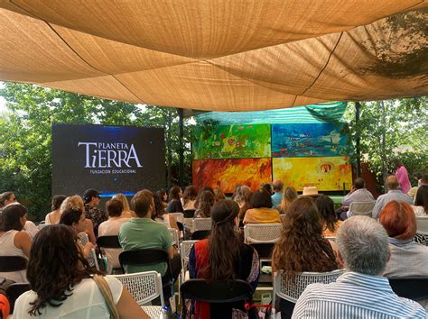
{"type": "MultiPolygon", "coordinates": [[[[85,232],[88,228],[83,209],[79,206],[70,206],[64,209],[60,215],[60,224],[69,226],[76,232],[76,235],[80,232],[85,232]]],[[[84,246],[79,242],[79,247],[86,259],[89,258],[90,251],[95,248],[94,244],[90,241],[84,246]]]]}

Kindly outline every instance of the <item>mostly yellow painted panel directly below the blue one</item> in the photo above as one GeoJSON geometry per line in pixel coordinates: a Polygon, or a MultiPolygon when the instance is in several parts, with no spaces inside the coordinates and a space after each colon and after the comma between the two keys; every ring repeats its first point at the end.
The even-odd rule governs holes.
{"type": "Polygon", "coordinates": [[[352,172],[347,157],[272,159],[274,179],[284,181],[302,191],[305,186],[316,186],[318,190],[342,190],[352,184],[352,172]]]}

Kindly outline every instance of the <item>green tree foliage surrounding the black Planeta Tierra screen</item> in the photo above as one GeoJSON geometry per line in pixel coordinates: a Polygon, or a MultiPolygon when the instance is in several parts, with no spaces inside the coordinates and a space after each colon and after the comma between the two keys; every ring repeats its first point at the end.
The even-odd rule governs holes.
{"type": "MultiPolygon", "coordinates": [[[[50,210],[52,123],[163,127],[167,167],[174,168],[178,162],[175,109],[149,105],[143,110],[124,102],[16,83],[5,83],[0,96],[7,108],[0,114],[0,192],[14,191],[37,219],[50,210]]],[[[188,145],[185,155],[190,154],[188,145]]],[[[169,172],[171,180],[172,169],[169,172]]]]}

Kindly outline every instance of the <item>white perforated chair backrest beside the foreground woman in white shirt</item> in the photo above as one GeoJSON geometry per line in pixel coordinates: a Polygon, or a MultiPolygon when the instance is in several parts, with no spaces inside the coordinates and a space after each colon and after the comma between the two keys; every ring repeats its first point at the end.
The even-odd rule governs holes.
{"type": "Polygon", "coordinates": [[[158,296],[161,298],[161,304],[165,305],[162,278],[156,271],[111,276],[120,280],[139,305],[144,305],[158,296]]]}

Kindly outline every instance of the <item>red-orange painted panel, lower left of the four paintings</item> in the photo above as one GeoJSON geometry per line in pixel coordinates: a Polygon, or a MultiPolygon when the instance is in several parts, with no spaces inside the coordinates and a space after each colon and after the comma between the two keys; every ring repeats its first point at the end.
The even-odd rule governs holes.
{"type": "Polygon", "coordinates": [[[225,193],[233,193],[238,184],[253,190],[272,180],[271,159],[241,160],[193,160],[193,185],[221,187],[225,193]]]}

